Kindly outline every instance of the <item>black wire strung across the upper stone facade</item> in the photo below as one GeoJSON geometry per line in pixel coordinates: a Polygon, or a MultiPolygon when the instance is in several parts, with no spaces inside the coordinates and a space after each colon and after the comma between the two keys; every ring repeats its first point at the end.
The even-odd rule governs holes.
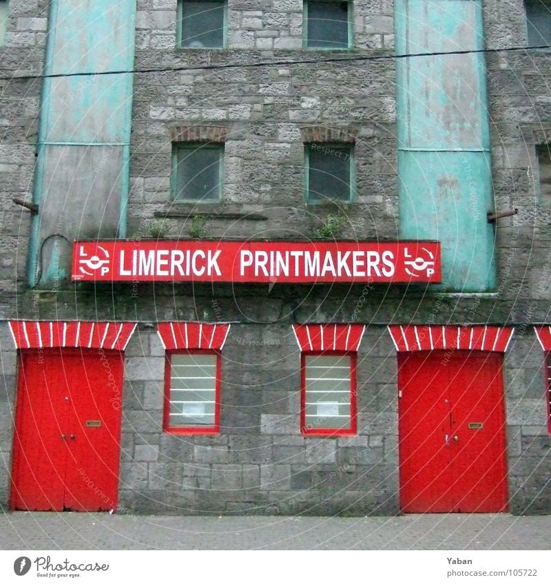
{"type": "Polygon", "coordinates": [[[191,67],[185,65],[183,67],[155,67],[154,69],[121,69],[118,71],[96,71],[88,73],[52,73],[48,75],[19,75],[19,76],[0,76],[1,81],[12,81],[16,79],[56,79],[60,77],[90,77],[95,75],[124,75],[129,73],[134,74],[148,74],[148,73],[166,73],[178,71],[194,71],[202,69],[236,69],[238,67],[273,67],[275,65],[315,65],[317,63],[349,63],[353,61],[382,61],[388,59],[401,59],[413,57],[431,57],[431,56],[446,56],[446,55],[468,55],[479,53],[500,53],[512,51],[529,51],[537,49],[551,49],[551,45],[537,45],[532,47],[504,47],[501,49],[477,49],[467,51],[441,51],[430,53],[408,53],[404,55],[363,55],[351,57],[333,57],[333,58],[311,58],[295,61],[260,61],[259,63],[226,63],[225,65],[197,65],[191,67]]]}

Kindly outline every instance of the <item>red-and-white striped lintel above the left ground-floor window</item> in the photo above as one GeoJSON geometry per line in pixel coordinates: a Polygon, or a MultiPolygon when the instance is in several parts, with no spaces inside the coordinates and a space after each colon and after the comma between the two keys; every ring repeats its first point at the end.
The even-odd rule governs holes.
{"type": "Polygon", "coordinates": [[[157,332],[165,349],[212,349],[221,351],[229,333],[229,325],[158,323],[157,332]]]}

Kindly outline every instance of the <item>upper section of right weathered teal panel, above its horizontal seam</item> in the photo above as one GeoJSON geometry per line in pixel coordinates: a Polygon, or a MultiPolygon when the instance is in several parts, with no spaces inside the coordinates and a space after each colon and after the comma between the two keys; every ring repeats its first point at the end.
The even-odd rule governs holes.
{"type": "MultiPolygon", "coordinates": [[[[396,54],[484,48],[479,0],[396,0],[396,54]]],[[[402,148],[488,149],[484,54],[397,59],[402,148]]]]}

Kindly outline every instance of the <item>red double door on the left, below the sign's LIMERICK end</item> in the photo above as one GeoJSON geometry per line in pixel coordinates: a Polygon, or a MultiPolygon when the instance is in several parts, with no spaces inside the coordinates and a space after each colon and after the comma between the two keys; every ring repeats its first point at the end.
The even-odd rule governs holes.
{"type": "Polygon", "coordinates": [[[13,509],[116,508],[122,382],[120,352],[21,352],[13,509]]]}

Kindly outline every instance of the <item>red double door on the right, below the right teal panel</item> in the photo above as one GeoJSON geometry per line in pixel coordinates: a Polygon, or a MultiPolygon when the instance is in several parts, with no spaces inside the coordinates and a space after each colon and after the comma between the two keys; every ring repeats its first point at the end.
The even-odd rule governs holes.
{"type": "Polygon", "coordinates": [[[501,355],[399,354],[404,512],[507,510],[501,355]]]}

